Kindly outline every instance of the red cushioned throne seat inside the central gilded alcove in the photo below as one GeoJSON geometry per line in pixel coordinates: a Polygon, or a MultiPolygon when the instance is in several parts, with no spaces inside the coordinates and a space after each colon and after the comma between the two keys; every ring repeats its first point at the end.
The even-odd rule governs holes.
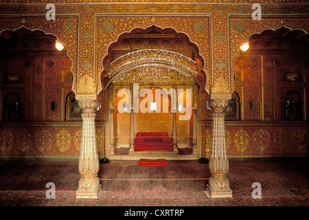
{"type": "Polygon", "coordinates": [[[173,151],[168,133],[139,132],[134,139],[134,151],[173,151]]]}

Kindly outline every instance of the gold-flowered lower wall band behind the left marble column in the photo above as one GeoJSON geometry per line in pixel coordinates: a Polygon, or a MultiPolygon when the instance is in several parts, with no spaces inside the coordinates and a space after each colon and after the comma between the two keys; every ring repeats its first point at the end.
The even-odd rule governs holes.
{"type": "MultiPolygon", "coordinates": [[[[96,140],[100,156],[105,153],[105,123],[96,124],[96,140]]],[[[1,159],[78,159],[82,139],[82,124],[20,123],[1,124],[1,159]]]]}

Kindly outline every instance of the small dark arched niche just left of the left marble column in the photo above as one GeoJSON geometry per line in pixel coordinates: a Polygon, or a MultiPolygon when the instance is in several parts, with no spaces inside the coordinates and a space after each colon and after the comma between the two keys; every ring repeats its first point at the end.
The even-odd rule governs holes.
{"type": "Polygon", "coordinates": [[[65,102],[65,120],[82,120],[82,109],[78,105],[78,101],[75,99],[73,92],[69,93],[65,102]]]}

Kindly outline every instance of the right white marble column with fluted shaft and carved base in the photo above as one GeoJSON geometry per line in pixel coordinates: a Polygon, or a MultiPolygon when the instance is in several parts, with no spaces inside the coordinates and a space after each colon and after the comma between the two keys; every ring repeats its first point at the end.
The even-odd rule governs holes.
{"type": "Polygon", "coordinates": [[[209,198],[232,197],[229,188],[229,159],[227,155],[227,139],[225,136],[225,109],[231,99],[231,95],[211,97],[212,113],[212,136],[211,152],[209,155],[209,170],[211,177],[207,184],[206,195],[209,198]]]}

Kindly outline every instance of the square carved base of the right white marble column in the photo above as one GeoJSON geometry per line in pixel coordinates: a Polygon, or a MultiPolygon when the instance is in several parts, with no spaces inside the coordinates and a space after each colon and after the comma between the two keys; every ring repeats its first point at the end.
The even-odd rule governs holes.
{"type": "Polygon", "coordinates": [[[229,188],[229,180],[210,178],[205,194],[208,198],[232,198],[232,190],[229,188]]]}

